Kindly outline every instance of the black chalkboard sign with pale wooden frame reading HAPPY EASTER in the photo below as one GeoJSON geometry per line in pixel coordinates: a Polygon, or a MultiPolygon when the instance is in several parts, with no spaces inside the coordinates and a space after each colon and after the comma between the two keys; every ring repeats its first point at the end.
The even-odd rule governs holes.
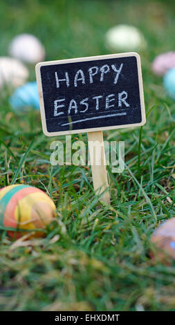
{"type": "Polygon", "coordinates": [[[145,124],[137,53],[42,62],[36,75],[46,136],[145,124]]]}

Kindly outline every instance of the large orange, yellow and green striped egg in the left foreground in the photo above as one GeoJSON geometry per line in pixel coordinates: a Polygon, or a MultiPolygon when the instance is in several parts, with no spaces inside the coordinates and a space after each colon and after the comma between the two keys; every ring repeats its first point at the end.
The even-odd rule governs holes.
{"type": "Polygon", "coordinates": [[[42,229],[53,221],[55,210],[51,198],[36,187],[10,185],[0,191],[0,225],[9,230],[12,238],[30,234],[32,230],[29,236],[44,236],[42,229]]]}

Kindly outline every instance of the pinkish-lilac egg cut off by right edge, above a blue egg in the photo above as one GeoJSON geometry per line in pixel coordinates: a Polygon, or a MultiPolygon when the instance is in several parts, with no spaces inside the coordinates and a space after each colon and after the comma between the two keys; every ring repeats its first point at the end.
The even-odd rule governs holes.
{"type": "Polygon", "coordinates": [[[175,52],[167,52],[155,57],[152,71],[155,75],[165,75],[170,68],[175,67],[175,52]]]}

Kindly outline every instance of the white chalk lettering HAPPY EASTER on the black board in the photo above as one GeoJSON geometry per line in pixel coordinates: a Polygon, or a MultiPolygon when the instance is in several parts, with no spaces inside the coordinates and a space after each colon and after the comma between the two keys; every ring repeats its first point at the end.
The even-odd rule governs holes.
{"type": "MultiPolygon", "coordinates": [[[[79,69],[73,78],[68,75],[68,72],[64,73],[64,77],[59,77],[59,73],[55,72],[55,84],[57,89],[62,89],[63,86],[66,86],[67,89],[69,87],[74,87],[76,89],[80,85],[93,84],[97,82],[97,80],[99,82],[105,82],[107,75],[112,72],[110,75],[111,82],[115,85],[118,83],[122,68],[123,64],[120,64],[118,68],[116,68],[115,64],[111,64],[110,66],[104,64],[101,67],[91,66],[88,71],[86,71],[86,77],[84,71],[79,69]]],[[[111,109],[126,109],[129,108],[127,97],[127,91],[125,90],[120,91],[120,93],[109,93],[109,95],[105,96],[102,93],[98,93],[93,97],[84,97],[79,100],[75,98],[67,100],[66,96],[59,97],[54,101],[53,115],[58,117],[60,115],[79,115],[81,113],[89,113],[89,109],[91,109],[92,106],[93,110],[95,109],[95,111],[99,111],[100,109],[103,109],[104,112],[111,111],[111,109]]],[[[121,114],[125,115],[125,113],[119,113],[118,115],[121,114]]]]}

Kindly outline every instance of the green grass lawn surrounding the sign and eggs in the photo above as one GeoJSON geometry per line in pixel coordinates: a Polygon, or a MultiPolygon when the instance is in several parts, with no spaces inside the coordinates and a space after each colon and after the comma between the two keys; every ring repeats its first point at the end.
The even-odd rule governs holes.
{"type": "Polygon", "coordinates": [[[151,233],[175,214],[175,102],[151,73],[152,59],[175,48],[174,10],[173,1],[1,3],[1,55],[19,32],[37,35],[49,60],[109,53],[104,33],[121,23],[140,28],[148,42],[140,53],[147,124],[104,132],[105,140],[125,141],[125,171],[108,167],[111,207],[99,205],[91,169],[51,168],[56,138],[44,136],[39,113],[15,114],[1,96],[0,187],[33,185],[57,206],[45,239],[15,242],[1,230],[1,310],[175,310],[175,263],[149,258],[151,233]]]}

